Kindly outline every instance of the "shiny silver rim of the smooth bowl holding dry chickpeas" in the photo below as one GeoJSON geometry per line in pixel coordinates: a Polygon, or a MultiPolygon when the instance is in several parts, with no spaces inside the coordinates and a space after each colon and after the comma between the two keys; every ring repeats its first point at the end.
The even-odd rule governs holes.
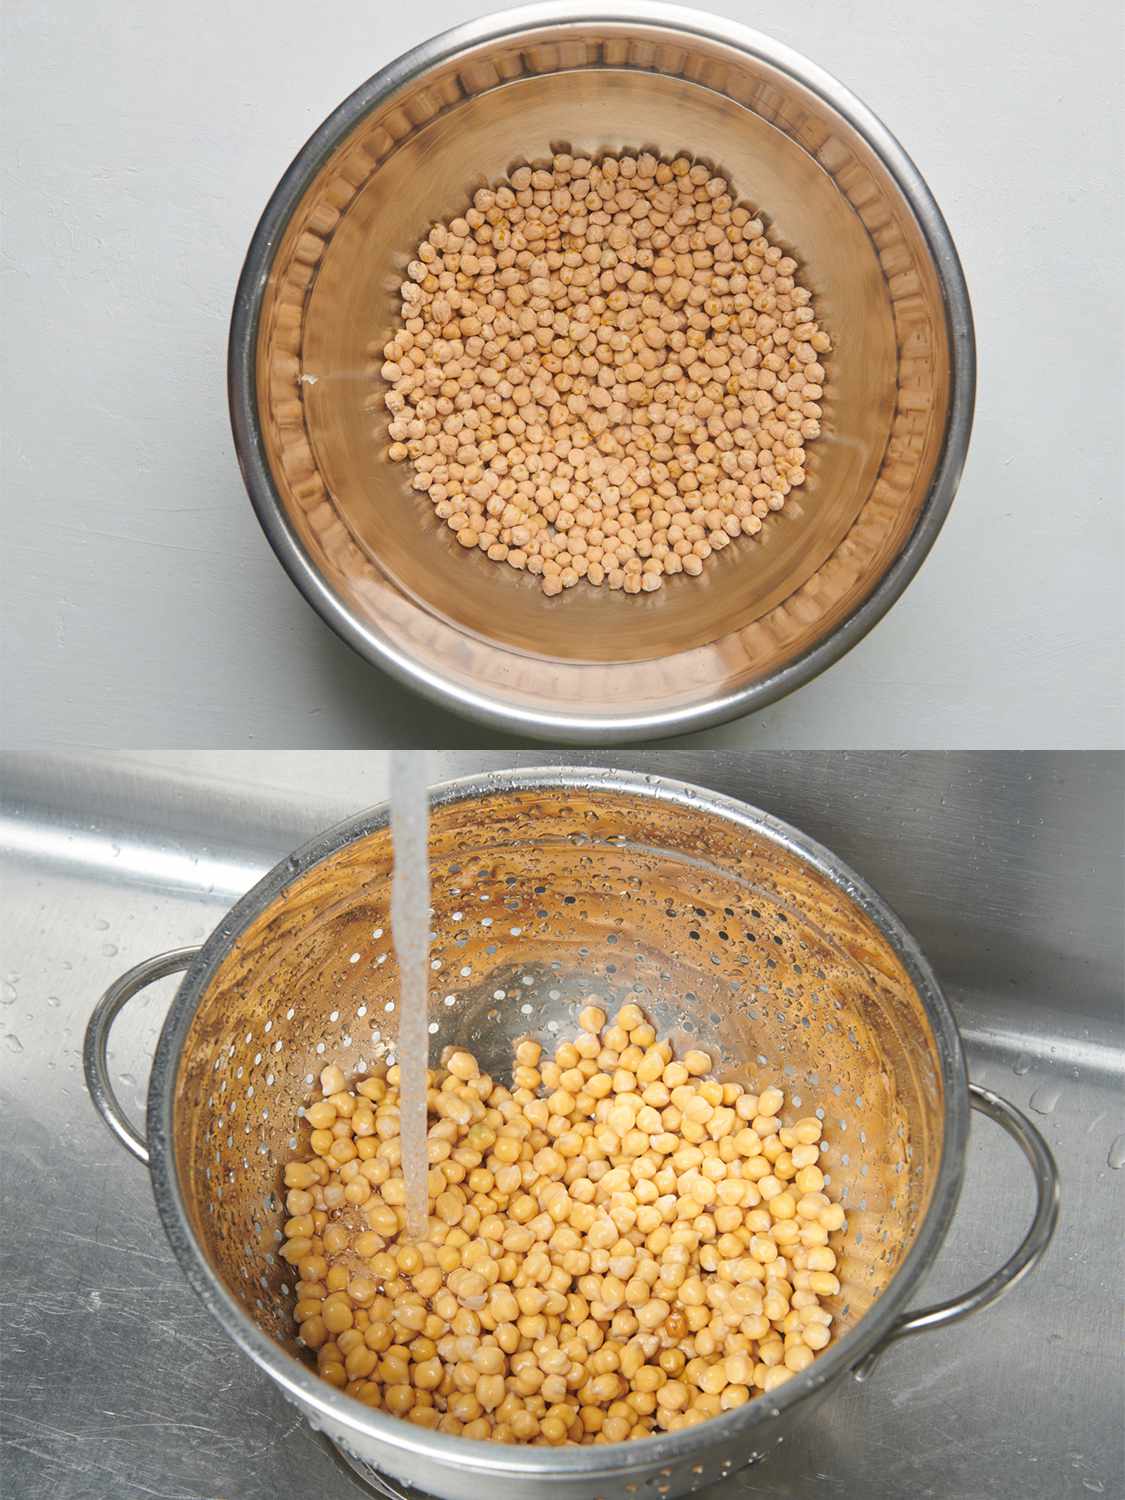
{"type": "Polygon", "coordinates": [[[957,492],[972,432],[976,346],[969,290],[938,202],[898,140],[837,78],[760,32],[687,6],[660,0],[651,4],[645,0],[584,0],[572,6],[567,0],[544,0],[454,26],[411,48],[372,74],[309,136],[270,196],[246,252],[231,314],[226,387],[238,466],[258,522],[285,572],[342,640],[430,702],[489,729],[555,744],[615,746],[690,734],[765,708],[838,662],[882,620],[930,552],[957,492]],[[468,687],[452,670],[426,668],[387,639],[376,621],[363,621],[334,592],[285,514],[273,482],[258,416],[256,345],[266,286],[285,228],[320,168],[370,110],[410,80],[482,42],[500,40],[530,27],[566,28],[614,21],[645,22],[744,51],[818,94],[866,141],[906,200],[942,290],[950,354],[950,410],[933,478],[909,537],[872,592],[822,640],[774,672],[722,698],[675,710],[624,710],[591,716],[574,710],[562,712],[520,705],[506,700],[496,690],[486,693],[468,687]]]}

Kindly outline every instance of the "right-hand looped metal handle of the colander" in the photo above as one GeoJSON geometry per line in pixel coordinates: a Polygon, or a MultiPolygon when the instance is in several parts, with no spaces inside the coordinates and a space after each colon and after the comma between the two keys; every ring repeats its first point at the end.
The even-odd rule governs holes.
{"type": "Polygon", "coordinates": [[[950,1298],[948,1302],[934,1302],[928,1308],[918,1308],[915,1312],[903,1312],[882,1344],[855,1366],[856,1380],[866,1380],[872,1374],[886,1346],[897,1338],[906,1338],[908,1334],[924,1334],[933,1328],[946,1328],[950,1323],[958,1323],[963,1317],[969,1317],[970,1312],[992,1306],[1005,1292],[1011,1292],[1018,1281],[1023,1281],[1028,1272],[1040,1263],[1042,1252],[1052,1242],[1054,1226],[1059,1221],[1059,1172],[1050,1146],[1022,1110],[1002,1100],[999,1094],[993,1094],[992,1089],[970,1083],[969,1102],[981,1114],[987,1114],[988,1119],[1002,1125],[1030,1162],[1036,1192],[1030,1228],[1000,1269],[993,1270],[972,1292],[963,1292],[962,1296],[950,1298]]]}

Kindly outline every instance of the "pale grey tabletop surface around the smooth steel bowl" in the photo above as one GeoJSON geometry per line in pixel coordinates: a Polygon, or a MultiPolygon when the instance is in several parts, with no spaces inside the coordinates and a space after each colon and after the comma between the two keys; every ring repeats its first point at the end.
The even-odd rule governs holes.
{"type": "MultiPolygon", "coordinates": [[[[236,278],[294,152],[376,68],[489,9],[8,0],[9,742],[496,742],[304,604],[225,408],[236,278]]],[[[711,9],[837,74],[914,154],[964,261],[981,388],[958,500],[904,598],[816,682],[694,742],[1120,744],[1118,6],[711,9]]]]}

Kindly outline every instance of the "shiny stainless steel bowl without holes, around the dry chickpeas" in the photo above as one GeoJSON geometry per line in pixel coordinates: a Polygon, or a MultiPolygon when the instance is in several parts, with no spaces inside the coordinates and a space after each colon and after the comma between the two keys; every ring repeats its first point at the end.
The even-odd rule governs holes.
{"type": "Polygon", "coordinates": [[[612,744],[772,702],[860,640],[940,530],[972,423],[969,297],[894,136],[746,27],[669,4],[537,4],[368,80],[285,172],[234,304],[230,399],[258,519],[362,656],[495,729],[612,744]],[[836,350],[808,483],[652,596],[555,600],[466,555],[386,459],[378,351],[411,248],[552,148],[688,152],[764,206],[836,350]]]}

